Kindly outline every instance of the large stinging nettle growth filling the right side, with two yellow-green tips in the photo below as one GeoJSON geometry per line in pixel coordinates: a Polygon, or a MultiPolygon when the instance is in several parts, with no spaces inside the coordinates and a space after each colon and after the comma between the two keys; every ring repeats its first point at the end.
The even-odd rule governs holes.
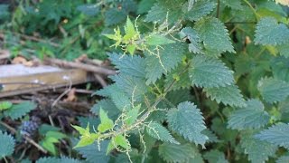
{"type": "Polygon", "coordinates": [[[105,34],[123,51],[108,53],[118,73],[96,92],[98,126],[73,126],[75,148],[106,161],[288,161],[286,16],[273,1],[159,0],[127,17],[105,34]]]}

